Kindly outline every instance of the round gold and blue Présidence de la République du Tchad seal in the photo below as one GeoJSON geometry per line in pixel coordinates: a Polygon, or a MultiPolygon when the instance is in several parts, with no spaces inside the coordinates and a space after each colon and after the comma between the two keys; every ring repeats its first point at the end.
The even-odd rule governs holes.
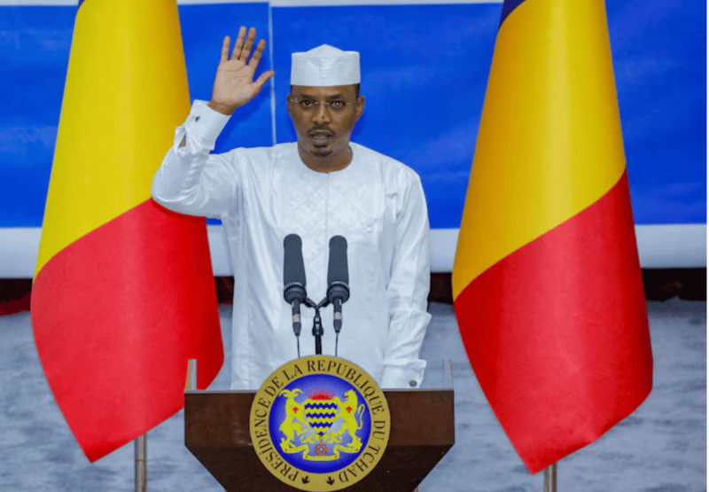
{"type": "Polygon", "coordinates": [[[389,441],[389,407],[360,367],[328,355],[301,357],[261,385],[249,430],[261,463],[301,490],[329,491],[362,480],[389,441]]]}

